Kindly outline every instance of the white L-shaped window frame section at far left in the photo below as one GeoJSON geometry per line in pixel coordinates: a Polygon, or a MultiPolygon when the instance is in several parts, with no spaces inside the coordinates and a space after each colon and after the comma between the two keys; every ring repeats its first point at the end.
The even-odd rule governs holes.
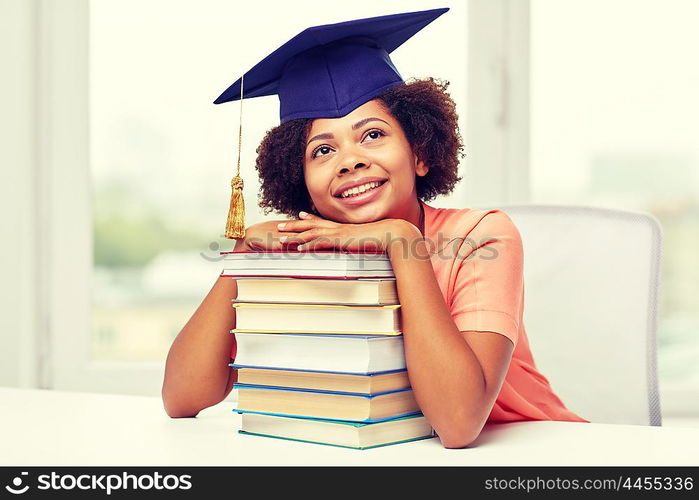
{"type": "Polygon", "coordinates": [[[37,3],[38,246],[48,322],[46,386],[66,391],[159,394],[163,362],[90,359],[93,235],[89,164],[89,1],[37,3]],[[60,98],[58,98],[60,96],[60,98]]]}

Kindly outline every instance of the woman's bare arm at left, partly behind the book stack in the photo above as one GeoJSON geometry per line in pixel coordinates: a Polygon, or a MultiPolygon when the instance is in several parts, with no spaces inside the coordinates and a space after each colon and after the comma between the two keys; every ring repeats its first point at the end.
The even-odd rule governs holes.
{"type": "MultiPolygon", "coordinates": [[[[266,221],[246,229],[234,252],[280,248],[277,223],[266,221]],[[276,239],[275,239],[276,238],[276,239]]],[[[219,277],[170,347],[165,363],[162,398],[171,417],[195,417],[228,396],[237,372],[229,367],[235,328],[231,300],[238,296],[232,278],[219,277]]]]}

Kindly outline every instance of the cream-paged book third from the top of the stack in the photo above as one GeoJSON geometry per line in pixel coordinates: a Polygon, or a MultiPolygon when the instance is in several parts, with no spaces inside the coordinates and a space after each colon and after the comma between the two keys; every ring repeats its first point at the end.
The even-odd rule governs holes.
{"type": "Polygon", "coordinates": [[[234,332],[400,335],[400,305],[233,302],[234,332]]]}

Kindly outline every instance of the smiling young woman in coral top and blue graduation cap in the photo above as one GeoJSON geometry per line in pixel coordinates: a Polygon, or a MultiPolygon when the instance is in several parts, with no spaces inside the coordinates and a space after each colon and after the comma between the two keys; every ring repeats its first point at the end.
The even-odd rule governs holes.
{"type": "MultiPolygon", "coordinates": [[[[397,23],[405,35],[406,19],[416,32],[444,12],[315,29],[325,39],[328,30],[344,34],[349,27],[356,35],[356,23],[373,30],[397,23]]],[[[385,252],[396,277],[410,384],[445,447],[471,444],[488,421],[586,422],[556,397],[534,363],[522,321],[522,242],[510,218],[500,210],[426,204],[460,180],[463,145],[447,84],[406,83],[373,38],[335,36],[335,43],[301,51],[286,64],[268,58],[274,71],[283,68],[280,82],[291,83],[279,84],[282,123],[258,148],[260,206],[293,219],[247,228],[236,251],[385,252]]],[[[257,77],[260,93],[253,97],[270,92],[269,75],[257,77]]],[[[241,89],[239,80],[221,102],[241,89]]],[[[230,392],[236,294],[234,280],[219,278],[175,339],[163,384],[171,416],[196,415],[230,392]]]]}

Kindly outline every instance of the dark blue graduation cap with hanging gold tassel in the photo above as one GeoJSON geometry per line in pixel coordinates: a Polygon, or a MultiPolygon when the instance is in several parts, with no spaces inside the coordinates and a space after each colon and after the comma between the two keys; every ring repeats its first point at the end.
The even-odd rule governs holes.
{"type": "MultiPolygon", "coordinates": [[[[278,95],[282,123],[297,118],[339,118],[403,83],[389,54],[448,8],[314,26],[302,31],[228,87],[221,104],[278,95]]],[[[239,133],[240,142],[240,133],[239,133]]],[[[238,170],[226,238],[245,236],[243,180],[238,170]]]]}

